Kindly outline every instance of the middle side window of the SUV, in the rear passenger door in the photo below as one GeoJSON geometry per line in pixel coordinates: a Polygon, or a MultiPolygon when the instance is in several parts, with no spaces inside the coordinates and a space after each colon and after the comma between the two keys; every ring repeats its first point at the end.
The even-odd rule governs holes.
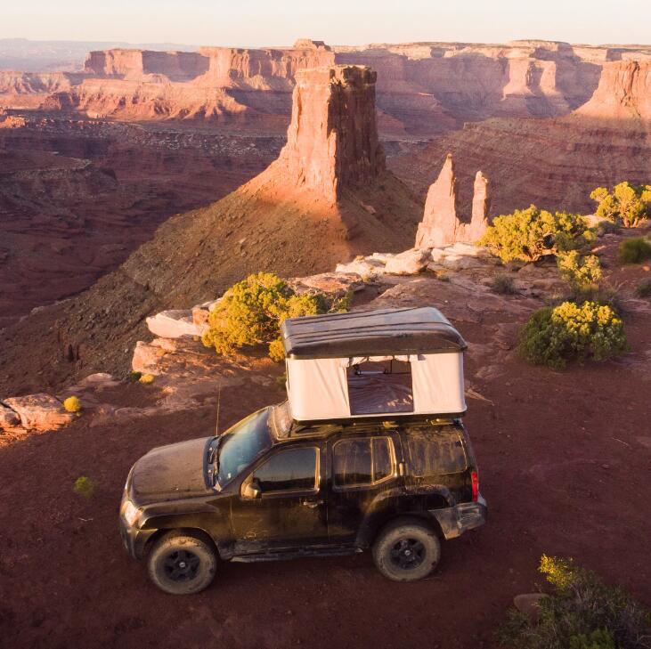
{"type": "Polygon", "coordinates": [[[389,437],[339,440],[332,449],[332,466],[338,488],[381,482],[395,470],[393,442],[389,437]]]}

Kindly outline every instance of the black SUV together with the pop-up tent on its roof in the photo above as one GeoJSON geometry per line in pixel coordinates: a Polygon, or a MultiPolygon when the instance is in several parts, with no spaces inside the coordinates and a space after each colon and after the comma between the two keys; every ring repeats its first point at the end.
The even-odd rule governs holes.
{"type": "Polygon", "coordinates": [[[431,308],[286,320],[289,400],[133,466],[120,529],[151,580],[206,588],[217,561],[371,548],[392,580],[427,576],[440,540],[486,520],[460,415],[463,338],[431,308]]]}

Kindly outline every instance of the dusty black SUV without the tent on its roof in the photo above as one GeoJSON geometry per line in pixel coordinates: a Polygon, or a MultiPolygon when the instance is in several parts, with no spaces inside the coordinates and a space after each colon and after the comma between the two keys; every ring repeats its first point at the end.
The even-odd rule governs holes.
{"type": "Polygon", "coordinates": [[[439,539],[487,510],[460,420],[301,426],[287,403],[224,434],[140,458],[120,507],[125,546],[167,593],[194,593],[218,560],[341,555],[372,548],[399,581],[435,568],[439,539]]]}

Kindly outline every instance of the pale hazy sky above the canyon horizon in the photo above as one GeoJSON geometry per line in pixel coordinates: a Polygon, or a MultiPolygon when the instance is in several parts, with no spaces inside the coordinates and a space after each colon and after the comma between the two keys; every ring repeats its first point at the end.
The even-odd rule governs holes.
{"type": "Polygon", "coordinates": [[[289,45],[651,42],[648,0],[2,0],[0,38],[289,45]]]}

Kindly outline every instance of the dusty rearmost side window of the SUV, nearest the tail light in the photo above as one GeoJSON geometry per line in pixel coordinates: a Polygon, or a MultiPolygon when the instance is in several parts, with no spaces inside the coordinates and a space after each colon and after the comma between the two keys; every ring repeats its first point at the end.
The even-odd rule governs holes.
{"type": "Polygon", "coordinates": [[[456,474],[468,466],[460,434],[453,428],[442,431],[411,429],[406,438],[411,475],[415,477],[456,474]]]}

